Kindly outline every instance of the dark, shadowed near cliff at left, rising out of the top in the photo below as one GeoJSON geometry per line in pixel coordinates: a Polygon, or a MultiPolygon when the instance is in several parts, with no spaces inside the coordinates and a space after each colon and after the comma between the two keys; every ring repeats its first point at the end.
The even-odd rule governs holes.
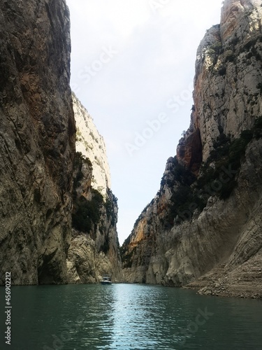
{"type": "Polygon", "coordinates": [[[66,283],[75,122],[64,0],[0,3],[0,283],[66,283]]]}

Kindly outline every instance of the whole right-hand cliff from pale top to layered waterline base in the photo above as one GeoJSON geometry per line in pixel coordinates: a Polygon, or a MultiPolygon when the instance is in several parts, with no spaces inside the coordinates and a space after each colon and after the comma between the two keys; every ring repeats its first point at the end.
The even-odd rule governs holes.
{"type": "Polygon", "coordinates": [[[191,124],[121,248],[126,281],[262,297],[261,18],[226,0],[201,41],[191,124]]]}

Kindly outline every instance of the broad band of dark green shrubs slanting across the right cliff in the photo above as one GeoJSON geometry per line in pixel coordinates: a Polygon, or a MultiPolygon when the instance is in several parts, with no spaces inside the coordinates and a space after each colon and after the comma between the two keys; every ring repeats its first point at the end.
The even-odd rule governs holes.
{"type": "Polygon", "coordinates": [[[244,130],[240,137],[233,141],[220,128],[220,135],[214,142],[214,150],[210,153],[205,164],[201,166],[201,176],[196,181],[184,181],[180,178],[183,174],[180,169],[181,165],[173,170],[173,174],[176,174],[176,179],[179,182],[176,183],[171,197],[166,217],[168,223],[172,223],[174,218],[183,212],[187,215],[180,219],[182,221],[189,220],[191,218],[191,215],[188,214],[190,210],[191,214],[196,208],[202,211],[210,195],[218,195],[223,200],[231,195],[233,189],[238,185],[235,178],[238,175],[242,157],[245,156],[247,145],[256,135],[256,130],[262,134],[262,116],[256,119],[252,130],[244,130]],[[230,175],[226,175],[226,171],[230,175]],[[223,179],[228,176],[227,181],[221,181],[221,176],[223,179]]]}

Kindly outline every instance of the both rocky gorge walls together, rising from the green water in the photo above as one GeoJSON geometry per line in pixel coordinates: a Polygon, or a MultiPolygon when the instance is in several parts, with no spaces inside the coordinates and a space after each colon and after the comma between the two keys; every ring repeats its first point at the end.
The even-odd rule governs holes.
{"type": "Polygon", "coordinates": [[[105,143],[71,92],[66,1],[3,0],[0,16],[0,284],[106,273],[262,297],[261,1],[225,0],[206,32],[189,129],[121,248],[105,143]]]}

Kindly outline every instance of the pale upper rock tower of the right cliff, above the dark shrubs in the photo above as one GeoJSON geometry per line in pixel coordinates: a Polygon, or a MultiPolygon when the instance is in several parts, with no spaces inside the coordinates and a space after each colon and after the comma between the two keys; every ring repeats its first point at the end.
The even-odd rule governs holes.
{"type": "Polygon", "coordinates": [[[221,24],[201,41],[196,58],[194,130],[207,160],[219,129],[231,138],[261,116],[261,3],[224,1],[221,24]]]}

